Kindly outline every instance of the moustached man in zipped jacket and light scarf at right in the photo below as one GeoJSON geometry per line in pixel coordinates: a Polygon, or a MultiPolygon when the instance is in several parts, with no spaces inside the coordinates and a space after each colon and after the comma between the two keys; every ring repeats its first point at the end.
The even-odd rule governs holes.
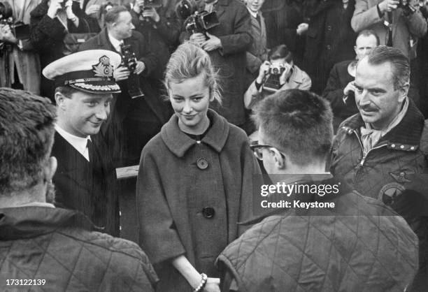
{"type": "Polygon", "coordinates": [[[408,58],[396,48],[381,45],[359,60],[359,113],[338,127],[330,170],[361,194],[390,205],[413,228],[420,240],[420,288],[428,284],[428,123],[407,96],[409,80],[408,58]]]}

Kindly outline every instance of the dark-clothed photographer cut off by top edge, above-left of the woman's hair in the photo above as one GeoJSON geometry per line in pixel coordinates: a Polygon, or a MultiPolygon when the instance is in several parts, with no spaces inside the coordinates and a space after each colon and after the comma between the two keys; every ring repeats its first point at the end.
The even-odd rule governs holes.
{"type": "Polygon", "coordinates": [[[168,1],[164,3],[162,0],[136,0],[131,9],[132,24],[148,41],[150,51],[159,61],[159,65],[152,73],[155,78],[152,84],[158,88],[162,87],[161,80],[166,62],[178,45],[180,36],[180,22],[175,13],[166,10],[168,1]]]}

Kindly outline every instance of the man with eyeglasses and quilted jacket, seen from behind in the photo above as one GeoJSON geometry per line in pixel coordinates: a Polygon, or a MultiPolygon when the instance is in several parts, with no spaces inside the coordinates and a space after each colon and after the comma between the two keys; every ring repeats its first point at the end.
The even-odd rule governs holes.
{"type": "Polygon", "coordinates": [[[283,196],[290,208],[254,219],[262,221],[222,251],[221,291],[404,291],[418,270],[418,239],[390,207],[325,172],[333,138],[328,101],[279,91],[260,101],[255,122],[259,145],[252,149],[270,187],[318,191],[294,189],[283,196]],[[338,193],[322,194],[329,187],[338,193]]]}

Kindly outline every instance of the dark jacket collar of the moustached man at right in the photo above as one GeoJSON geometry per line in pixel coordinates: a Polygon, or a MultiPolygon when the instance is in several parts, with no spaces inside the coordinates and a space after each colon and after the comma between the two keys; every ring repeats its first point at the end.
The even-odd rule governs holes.
{"type": "MultiPolygon", "coordinates": [[[[422,129],[425,123],[424,116],[411,98],[409,98],[408,101],[409,104],[406,115],[404,115],[397,126],[380,139],[379,143],[387,141],[392,145],[411,145],[413,149],[420,144],[422,129]]],[[[358,113],[346,119],[341,128],[347,131],[348,134],[351,134],[353,131],[359,133],[359,128],[362,126],[365,126],[365,124],[361,115],[358,113]]],[[[405,146],[404,149],[407,149],[407,147],[405,146]]]]}

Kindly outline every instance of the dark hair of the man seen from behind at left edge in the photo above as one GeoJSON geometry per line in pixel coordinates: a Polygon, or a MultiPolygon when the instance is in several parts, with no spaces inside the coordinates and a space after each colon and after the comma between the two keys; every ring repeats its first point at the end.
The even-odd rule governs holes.
{"type": "Polygon", "coordinates": [[[56,116],[48,98],[0,89],[0,196],[24,191],[43,180],[56,116]]]}

